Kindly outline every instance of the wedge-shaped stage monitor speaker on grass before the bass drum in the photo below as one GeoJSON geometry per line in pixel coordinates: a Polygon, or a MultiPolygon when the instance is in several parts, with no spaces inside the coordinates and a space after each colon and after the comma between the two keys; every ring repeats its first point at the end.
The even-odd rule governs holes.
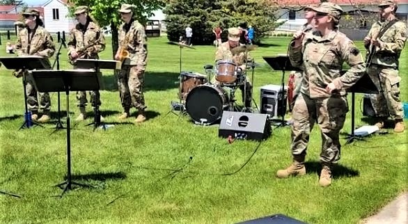
{"type": "Polygon", "coordinates": [[[261,141],[271,135],[266,114],[223,111],[218,136],[261,141]]]}

